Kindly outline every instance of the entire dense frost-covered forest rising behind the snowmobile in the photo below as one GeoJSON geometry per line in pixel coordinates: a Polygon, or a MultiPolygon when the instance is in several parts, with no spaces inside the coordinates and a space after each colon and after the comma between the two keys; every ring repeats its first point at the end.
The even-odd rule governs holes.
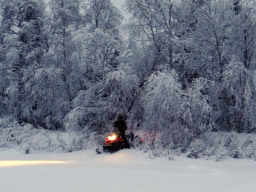
{"type": "Polygon", "coordinates": [[[256,130],[255,0],[1,0],[0,116],[188,145],[256,130]],[[124,35],[125,31],[125,35],[124,35]]]}

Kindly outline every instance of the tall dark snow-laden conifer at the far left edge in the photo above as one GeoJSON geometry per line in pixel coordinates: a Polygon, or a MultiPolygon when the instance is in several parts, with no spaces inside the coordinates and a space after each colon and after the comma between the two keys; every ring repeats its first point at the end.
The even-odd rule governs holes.
{"type": "Polygon", "coordinates": [[[42,65],[47,49],[45,7],[42,1],[35,0],[11,1],[3,5],[3,62],[8,64],[10,78],[10,85],[6,89],[7,103],[10,112],[20,122],[31,122],[24,115],[24,106],[31,106],[30,93],[25,84],[31,73],[42,65]]]}

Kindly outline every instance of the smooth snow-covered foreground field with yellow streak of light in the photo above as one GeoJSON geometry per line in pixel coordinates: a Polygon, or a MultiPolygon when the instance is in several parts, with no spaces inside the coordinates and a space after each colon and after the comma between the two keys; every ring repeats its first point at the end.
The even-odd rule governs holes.
{"type": "Polygon", "coordinates": [[[135,150],[96,155],[0,152],[1,192],[255,192],[256,161],[149,159],[135,150]]]}

